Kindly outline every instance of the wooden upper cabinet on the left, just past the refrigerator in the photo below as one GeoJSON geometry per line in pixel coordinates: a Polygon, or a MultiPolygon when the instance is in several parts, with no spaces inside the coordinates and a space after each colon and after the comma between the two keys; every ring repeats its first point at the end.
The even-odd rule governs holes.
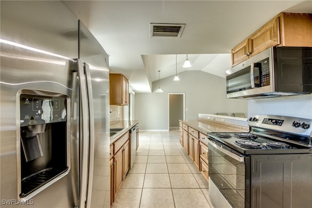
{"type": "Polygon", "coordinates": [[[129,105],[129,81],[122,74],[109,74],[110,105],[129,105]]]}

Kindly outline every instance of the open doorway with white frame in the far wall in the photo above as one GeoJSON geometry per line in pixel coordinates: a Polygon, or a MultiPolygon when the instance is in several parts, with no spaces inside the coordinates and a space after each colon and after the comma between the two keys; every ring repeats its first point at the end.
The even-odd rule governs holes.
{"type": "Polygon", "coordinates": [[[178,130],[179,120],[185,120],[185,93],[168,93],[168,130],[178,130]]]}

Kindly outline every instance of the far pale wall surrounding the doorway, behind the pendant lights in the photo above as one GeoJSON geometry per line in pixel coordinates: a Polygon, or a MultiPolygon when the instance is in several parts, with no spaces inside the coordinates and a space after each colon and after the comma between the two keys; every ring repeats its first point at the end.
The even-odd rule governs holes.
{"type": "Polygon", "coordinates": [[[168,130],[168,93],[185,93],[185,119],[197,119],[198,113],[245,113],[247,100],[227,99],[225,78],[202,71],[185,71],[160,80],[163,93],[155,93],[158,80],[149,94],[135,94],[135,117],[142,130],[168,130]]]}

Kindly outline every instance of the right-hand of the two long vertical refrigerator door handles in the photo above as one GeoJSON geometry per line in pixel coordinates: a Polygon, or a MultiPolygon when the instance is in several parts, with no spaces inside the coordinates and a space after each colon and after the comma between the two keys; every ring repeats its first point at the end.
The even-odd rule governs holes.
{"type": "Polygon", "coordinates": [[[89,106],[89,177],[87,190],[87,208],[91,207],[92,183],[93,183],[93,166],[94,166],[94,109],[93,109],[93,94],[91,84],[91,74],[89,65],[84,63],[84,73],[87,84],[87,96],[89,106]]]}

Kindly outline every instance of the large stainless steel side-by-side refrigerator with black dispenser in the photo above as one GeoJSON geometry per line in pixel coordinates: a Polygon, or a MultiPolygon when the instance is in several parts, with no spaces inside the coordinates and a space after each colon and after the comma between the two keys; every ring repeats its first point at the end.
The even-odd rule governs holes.
{"type": "Polygon", "coordinates": [[[61,1],[0,9],[0,207],[109,207],[108,55],[61,1]]]}

